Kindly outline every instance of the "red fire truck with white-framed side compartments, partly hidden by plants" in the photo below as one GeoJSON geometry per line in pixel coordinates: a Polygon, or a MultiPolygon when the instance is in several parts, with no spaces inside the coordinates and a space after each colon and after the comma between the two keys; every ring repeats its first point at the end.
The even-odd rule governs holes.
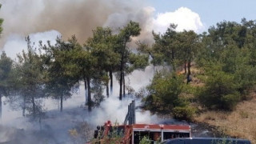
{"type": "Polygon", "coordinates": [[[190,126],[132,124],[113,126],[110,121],[98,126],[91,143],[137,144],[146,137],[152,144],[170,138],[190,138],[190,126]]]}

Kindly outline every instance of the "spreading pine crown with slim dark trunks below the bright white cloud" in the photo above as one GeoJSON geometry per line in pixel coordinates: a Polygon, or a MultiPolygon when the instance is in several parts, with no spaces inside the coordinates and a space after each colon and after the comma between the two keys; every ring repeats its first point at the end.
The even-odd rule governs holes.
{"type": "Polygon", "coordinates": [[[183,65],[185,73],[188,72],[187,77],[189,77],[191,62],[194,61],[198,51],[202,48],[202,42],[193,30],[177,32],[176,27],[176,25],[170,24],[164,34],[153,32],[154,44],[148,46],[138,42],[138,50],[144,54],[149,54],[154,66],[171,66],[175,71],[183,65]]]}

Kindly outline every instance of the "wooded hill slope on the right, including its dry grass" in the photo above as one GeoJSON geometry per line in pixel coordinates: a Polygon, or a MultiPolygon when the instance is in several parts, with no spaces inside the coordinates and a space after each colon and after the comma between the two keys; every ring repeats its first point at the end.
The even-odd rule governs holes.
{"type": "Polygon", "coordinates": [[[249,112],[243,104],[250,104],[248,108],[254,106],[255,24],[245,18],[241,23],[223,21],[203,34],[177,32],[170,25],[165,34],[154,34],[153,46],[141,44],[143,52],[153,55],[153,64],[173,69],[169,75],[155,74],[143,98],[146,110],[206,122],[219,126],[230,136],[255,142],[255,110],[249,112]],[[180,77],[183,82],[176,86],[176,82],[182,81],[180,77]],[[234,118],[234,114],[241,117],[234,118]],[[231,119],[239,122],[229,123],[231,119]],[[243,123],[247,120],[250,126],[243,123]],[[234,127],[245,128],[234,130],[234,127]]]}

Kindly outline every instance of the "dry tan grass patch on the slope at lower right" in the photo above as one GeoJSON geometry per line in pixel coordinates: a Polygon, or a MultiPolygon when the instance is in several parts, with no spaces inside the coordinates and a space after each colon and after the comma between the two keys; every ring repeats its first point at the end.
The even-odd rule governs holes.
{"type": "Polygon", "coordinates": [[[235,138],[246,138],[256,144],[256,96],[240,102],[232,112],[206,111],[197,118],[198,122],[206,122],[217,126],[225,134],[235,138]]]}

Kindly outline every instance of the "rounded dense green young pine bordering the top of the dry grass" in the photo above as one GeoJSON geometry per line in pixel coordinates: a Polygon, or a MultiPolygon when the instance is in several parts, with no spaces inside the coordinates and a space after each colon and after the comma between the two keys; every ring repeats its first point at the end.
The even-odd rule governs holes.
{"type": "Polygon", "coordinates": [[[233,74],[213,70],[198,94],[202,105],[210,109],[232,110],[240,100],[233,74]]]}

